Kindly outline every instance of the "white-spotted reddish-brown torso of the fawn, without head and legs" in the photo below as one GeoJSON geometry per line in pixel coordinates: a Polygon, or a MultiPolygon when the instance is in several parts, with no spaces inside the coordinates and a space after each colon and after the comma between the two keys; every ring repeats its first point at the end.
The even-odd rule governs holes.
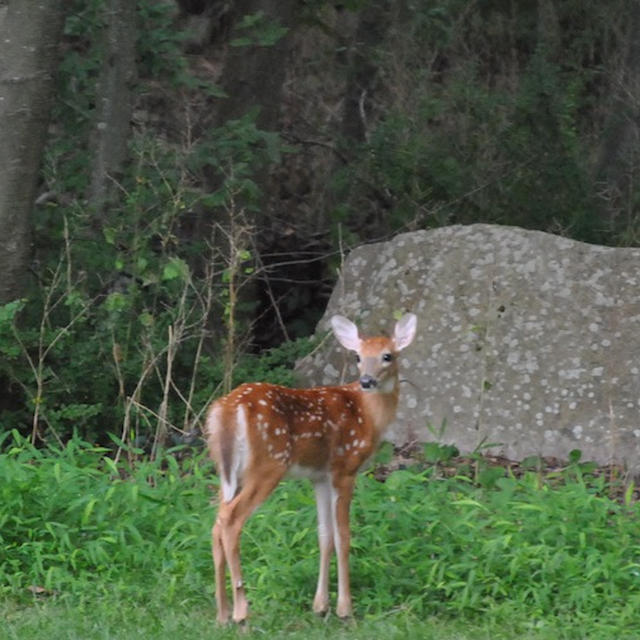
{"type": "Polygon", "coordinates": [[[397,398],[387,404],[378,398],[363,402],[357,382],[314,389],[267,383],[237,387],[212,406],[207,419],[224,500],[242,485],[255,455],[262,464],[272,461],[297,477],[355,473],[375,451],[397,398]]]}

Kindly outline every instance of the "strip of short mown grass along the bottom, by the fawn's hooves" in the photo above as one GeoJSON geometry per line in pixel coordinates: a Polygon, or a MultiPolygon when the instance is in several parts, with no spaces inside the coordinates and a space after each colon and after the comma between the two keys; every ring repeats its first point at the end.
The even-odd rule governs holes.
{"type": "MultiPolygon", "coordinates": [[[[522,625],[496,625],[490,619],[456,621],[438,618],[420,619],[395,610],[378,616],[366,616],[349,623],[334,618],[321,620],[312,614],[297,612],[289,617],[268,610],[254,616],[247,628],[220,629],[214,612],[206,607],[180,607],[171,610],[145,607],[131,602],[95,601],[80,604],[36,603],[27,606],[0,607],[4,620],[2,638],[58,638],[85,640],[93,638],[157,638],[180,637],[202,639],[287,638],[288,640],[320,640],[345,638],[371,640],[493,640],[511,638],[563,638],[559,628],[531,629],[522,625]]],[[[522,622],[522,621],[521,621],[522,622]]],[[[595,637],[595,636],[594,636],[595,637]]],[[[603,635],[601,637],[607,637],[603,635]]],[[[610,637],[610,636],[609,636],[610,637]]],[[[632,636],[630,636],[632,637],[632,636]]],[[[636,636],[637,637],[637,636],[636,636]]]]}

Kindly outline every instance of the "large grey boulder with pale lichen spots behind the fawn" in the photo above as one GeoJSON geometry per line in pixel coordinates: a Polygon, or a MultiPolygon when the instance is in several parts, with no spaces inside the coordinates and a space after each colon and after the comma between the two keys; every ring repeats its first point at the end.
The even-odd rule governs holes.
{"type": "MultiPolygon", "coordinates": [[[[640,466],[640,249],[493,225],[397,236],[352,251],[318,331],[341,313],[363,333],[418,314],[402,353],[394,442],[640,466]]],[[[329,337],[309,384],[355,378],[329,337]]]]}

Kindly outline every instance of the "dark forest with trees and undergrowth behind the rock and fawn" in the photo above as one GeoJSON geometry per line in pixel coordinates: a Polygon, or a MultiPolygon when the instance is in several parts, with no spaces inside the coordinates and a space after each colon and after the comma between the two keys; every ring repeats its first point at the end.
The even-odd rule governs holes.
{"type": "Polygon", "coordinates": [[[638,33],[637,0],[0,2],[0,429],[190,441],[400,231],[637,245],[638,33]]]}

